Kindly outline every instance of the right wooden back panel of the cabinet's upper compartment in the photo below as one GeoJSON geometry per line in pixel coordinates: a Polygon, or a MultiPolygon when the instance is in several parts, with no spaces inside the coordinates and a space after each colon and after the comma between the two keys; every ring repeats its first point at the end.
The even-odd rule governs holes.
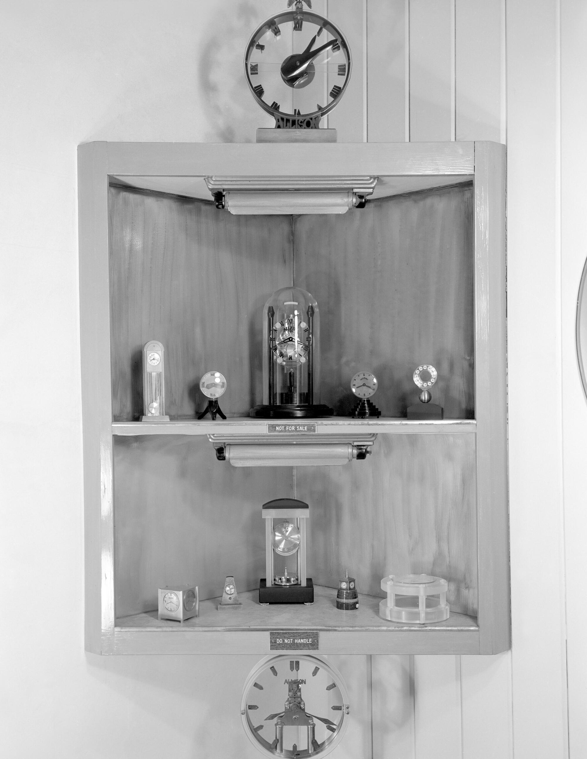
{"type": "Polygon", "coordinates": [[[469,183],[295,217],[295,285],[320,308],[320,400],[336,414],[350,413],[351,378],[366,370],[383,416],[405,417],[412,373],[432,364],[444,418],[475,417],[473,213],[469,183]]]}

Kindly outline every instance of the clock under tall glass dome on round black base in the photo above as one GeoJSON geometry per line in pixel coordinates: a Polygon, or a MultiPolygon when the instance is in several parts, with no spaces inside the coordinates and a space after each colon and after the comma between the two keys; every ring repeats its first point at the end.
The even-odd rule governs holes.
{"type": "Polygon", "coordinates": [[[320,404],[320,313],[309,292],[282,288],[263,310],[263,404],[251,417],[330,417],[320,404]]]}

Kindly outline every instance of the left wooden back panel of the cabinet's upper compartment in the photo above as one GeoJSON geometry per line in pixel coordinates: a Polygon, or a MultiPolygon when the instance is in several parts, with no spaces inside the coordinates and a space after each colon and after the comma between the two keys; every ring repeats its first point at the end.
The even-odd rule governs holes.
{"type": "Polygon", "coordinates": [[[292,284],[292,218],[232,216],[212,203],[109,189],[112,416],[143,413],[142,349],[165,349],[166,414],[194,418],[200,377],[228,380],[220,407],[262,399],[262,312],[292,284]]]}

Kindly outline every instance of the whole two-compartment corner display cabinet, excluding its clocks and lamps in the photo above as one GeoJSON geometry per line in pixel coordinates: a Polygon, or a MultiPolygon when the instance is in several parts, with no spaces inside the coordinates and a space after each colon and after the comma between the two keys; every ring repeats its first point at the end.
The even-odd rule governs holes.
{"type": "Polygon", "coordinates": [[[316,634],[319,653],[510,647],[505,148],[88,143],[79,210],[87,649],[266,655],[284,629],[316,634]],[[330,215],[233,215],[206,182],[365,176],[365,207],[330,215]],[[320,402],[334,411],[307,438],[363,442],[361,461],[216,457],[231,439],[279,438],[249,411],[264,403],[264,304],[288,287],[320,304],[320,402]],[[153,424],[139,421],[151,339],[169,415],[153,424]],[[423,363],[441,420],[406,418],[423,363]],[[210,367],[226,377],[226,420],[197,420],[210,367]],[[352,417],[359,371],[377,376],[379,417],[352,417]],[[258,603],[260,509],[278,498],[310,506],[311,606],[258,603]],[[336,609],[347,568],[352,614],[336,609]],[[381,578],[420,574],[447,580],[449,619],[382,619],[381,578]],[[217,609],[227,575],[235,615],[217,609]],[[199,616],[157,619],[158,588],[181,584],[199,587],[199,616]]]}

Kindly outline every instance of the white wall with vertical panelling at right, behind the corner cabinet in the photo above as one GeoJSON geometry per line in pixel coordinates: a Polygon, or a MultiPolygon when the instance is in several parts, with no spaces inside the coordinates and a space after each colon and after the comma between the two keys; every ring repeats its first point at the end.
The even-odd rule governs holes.
{"type": "MultiPolygon", "coordinates": [[[[286,0],[4,5],[0,92],[9,118],[0,120],[0,235],[11,402],[2,424],[9,432],[2,490],[10,508],[0,564],[8,596],[36,587],[39,578],[45,592],[21,609],[19,624],[5,625],[11,655],[3,662],[9,692],[2,715],[10,728],[3,755],[255,757],[237,716],[255,657],[100,658],[83,651],[74,166],[75,147],[87,140],[254,140],[257,127],[272,124],[248,93],[245,44],[286,0]],[[39,372],[39,365],[55,364],[55,355],[55,370],[39,372]],[[48,397],[59,399],[49,414],[32,400],[48,397]],[[58,606],[58,597],[67,604],[58,606]],[[216,721],[222,729],[214,734],[216,721]]],[[[330,115],[340,141],[505,142],[507,58],[510,150],[513,654],[336,657],[354,706],[335,759],[509,759],[513,747],[516,759],[566,756],[554,210],[559,6],[563,104],[574,109],[563,130],[563,190],[574,198],[562,223],[570,250],[562,272],[567,329],[585,259],[584,0],[507,0],[507,14],[506,0],[313,2],[352,46],[352,82],[330,115]],[[537,357],[540,381],[531,385],[525,373],[537,357]]],[[[573,500],[566,560],[578,599],[569,642],[583,660],[570,669],[571,756],[582,759],[586,412],[573,339],[564,334],[565,481],[573,500]]]]}

